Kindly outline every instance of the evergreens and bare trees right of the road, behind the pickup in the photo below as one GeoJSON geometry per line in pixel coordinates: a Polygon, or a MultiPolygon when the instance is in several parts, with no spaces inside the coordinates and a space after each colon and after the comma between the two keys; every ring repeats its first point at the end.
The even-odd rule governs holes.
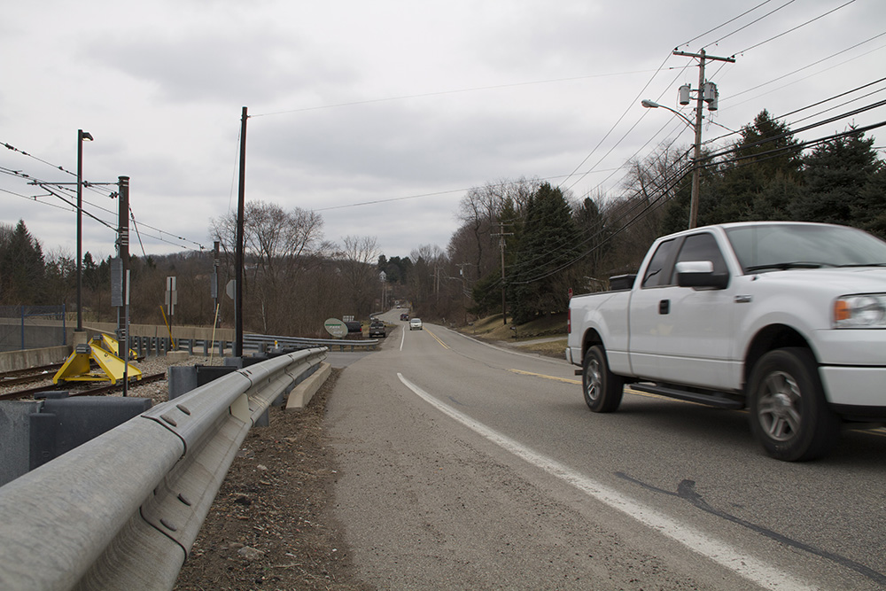
{"type": "MultiPolygon", "coordinates": [[[[886,167],[863,130],[809,145],[763,111],[739,136],[709,148],[698,163],[699,226],[831,222],[886,237],[886,167]]],[[[688,153],[663,145],[630,162],[618,195],[574,198],[525,178],[469,191],[459,208],[462,225],[441,261],[450,274],[467,269],[466,311],[507,309],[515,323],[526,323],[565,311],[570,289],[602,291],[610,276],[635,271],[657,237],[688,227],[688,153]]]]}

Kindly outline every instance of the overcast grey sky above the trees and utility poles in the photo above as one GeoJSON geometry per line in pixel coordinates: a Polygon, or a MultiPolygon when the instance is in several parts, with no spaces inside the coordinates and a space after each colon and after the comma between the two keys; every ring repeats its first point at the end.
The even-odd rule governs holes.
{"type": "MultiPolygon", "coordinates": [[[[211,248],[210,220],[237,206],[246,106],[247,200],[314,209],[327,240],[376,237],[388,257],[446,248],[471,187],[525,176],[618,195],[629,159],[673,136],[688,147],[687,126],[640,105],[692,116],[677,96],[696,89],[697,60],[675,48],[735,57],[706,69],[720,97],[711,139],[886,76],[886,2],[6,3],[0,144],[16,150],[0,150],[0,222],[23,219],[44,253],[74,255],[74,208],[20,175],[74,183],[82,128],[95,138],[84,179],[130,177],[132,253],[211,248]]],[[[883,89],[785,121],[872,105],[883,89]]],[[[799,139],[881,121],[886,107],[799,139]]],[[[884,144],[882,129],[869,135],[884,144]]],[[[110,191],[84,191],[85,208],[116,227],[110,191]]],[[[116,253],[113,229],[84,217],[83,236],[84,252],[116,253]]]]}

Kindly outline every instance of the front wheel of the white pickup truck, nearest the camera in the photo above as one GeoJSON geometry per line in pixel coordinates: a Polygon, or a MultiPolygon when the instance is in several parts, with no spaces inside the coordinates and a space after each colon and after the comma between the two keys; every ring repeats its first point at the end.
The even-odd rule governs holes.
{"type": "Polygon", "coordinates": [[[808,349],[789,347],[763,355],[750,377],[749,407],[751,431],[778,460],[819,458],[834,447],[840,431],[808,349]]]}

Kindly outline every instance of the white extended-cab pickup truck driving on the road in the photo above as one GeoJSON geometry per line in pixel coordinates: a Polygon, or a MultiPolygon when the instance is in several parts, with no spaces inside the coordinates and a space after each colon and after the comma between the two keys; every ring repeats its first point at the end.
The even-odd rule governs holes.
{"type": "Polygon", "coordinates": [[[842,421],[886,419],[879,238],[799,222],[690,229],[612,285],[569,307],[566,359],[595,412],[616,410],[625,384],[748,408],[766,452],[788,461],[826,454],[842,421]]]}

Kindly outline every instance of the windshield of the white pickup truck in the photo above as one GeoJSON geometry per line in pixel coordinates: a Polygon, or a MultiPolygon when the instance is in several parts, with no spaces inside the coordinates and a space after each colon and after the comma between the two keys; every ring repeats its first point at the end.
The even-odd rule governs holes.
{"type": "Polygon", "coordinates": [[[845,226],[764,223],[727,228],[726,233],[745,273],[886,266],[886,242],[845,226]]]}

